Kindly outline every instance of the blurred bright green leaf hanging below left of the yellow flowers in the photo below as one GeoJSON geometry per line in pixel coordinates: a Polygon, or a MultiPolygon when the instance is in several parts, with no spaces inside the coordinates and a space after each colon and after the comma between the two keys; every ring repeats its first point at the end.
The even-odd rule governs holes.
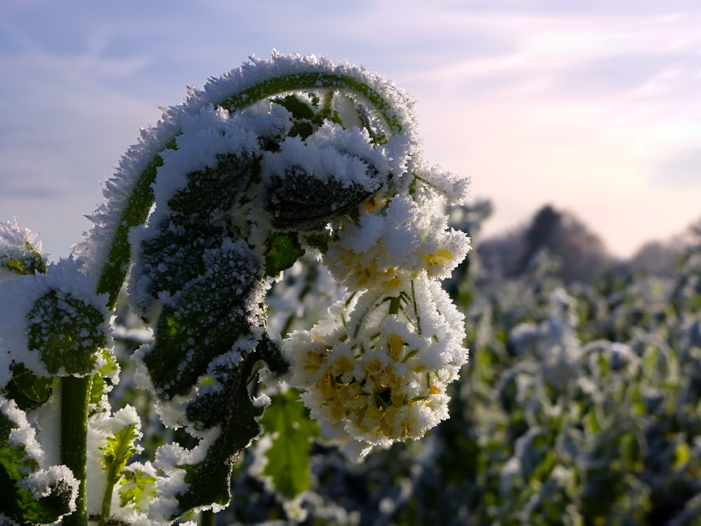
{"type": "Polygon", "coordinates": [[[278,492],[294,499],[309,489],[312,438],[319,435],[319,425],[292,390],[273,397],[260,423],[273,436],[261,474],[272,478],[278,492]]]}

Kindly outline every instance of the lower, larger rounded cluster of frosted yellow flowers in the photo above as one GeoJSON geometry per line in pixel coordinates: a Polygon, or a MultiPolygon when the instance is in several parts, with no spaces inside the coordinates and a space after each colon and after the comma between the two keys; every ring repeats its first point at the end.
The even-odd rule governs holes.
{"type": "Polygon", "coordinates": [[[369,446],[446,419],[446,386],[467,360],[463,316],[444,290],[425,273],[402,283],[341,300],[287,340],[311,416],[369,446]]]}

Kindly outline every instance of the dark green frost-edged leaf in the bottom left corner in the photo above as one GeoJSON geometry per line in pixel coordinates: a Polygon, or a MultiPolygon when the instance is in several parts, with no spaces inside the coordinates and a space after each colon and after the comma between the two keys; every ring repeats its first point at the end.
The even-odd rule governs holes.
{"type": "Polygon", "coordinates": [[[43,488],[44,497],[35,498],[22,482],[39,468],[27,454],[23,444],[10,440],[18,424],[0,412],[0,514],[21,524],[49,524],[70,513],[72,487],[65,480],[56,480],[43,488]]]}

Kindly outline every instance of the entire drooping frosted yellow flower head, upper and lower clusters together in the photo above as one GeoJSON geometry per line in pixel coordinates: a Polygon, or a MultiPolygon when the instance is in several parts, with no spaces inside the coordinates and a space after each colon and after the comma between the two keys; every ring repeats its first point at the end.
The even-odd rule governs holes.
{"type": "Polygon", "coordinates": [[[464,202],[469,181],[406,168],[357,214],[329,224],[322,262],[349,292],[285,341],[290,383],[311,417],[365,452],[421,438],[447,419],[447,384],[468,360],[464,317],[439,280],[470,249],[440,203],[464,202]]]}

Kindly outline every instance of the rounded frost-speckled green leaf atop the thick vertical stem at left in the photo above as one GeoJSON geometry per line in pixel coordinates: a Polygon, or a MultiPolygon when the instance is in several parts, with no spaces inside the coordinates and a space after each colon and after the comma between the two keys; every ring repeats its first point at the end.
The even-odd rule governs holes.
{"type": "Polygon", "coordinates": [[[102,312],[70,293],[50,290],[36,300],[27,321],[29,349],[41,353],[52,375],[93,372],[97,351],[107,346],[102,312]]]}

